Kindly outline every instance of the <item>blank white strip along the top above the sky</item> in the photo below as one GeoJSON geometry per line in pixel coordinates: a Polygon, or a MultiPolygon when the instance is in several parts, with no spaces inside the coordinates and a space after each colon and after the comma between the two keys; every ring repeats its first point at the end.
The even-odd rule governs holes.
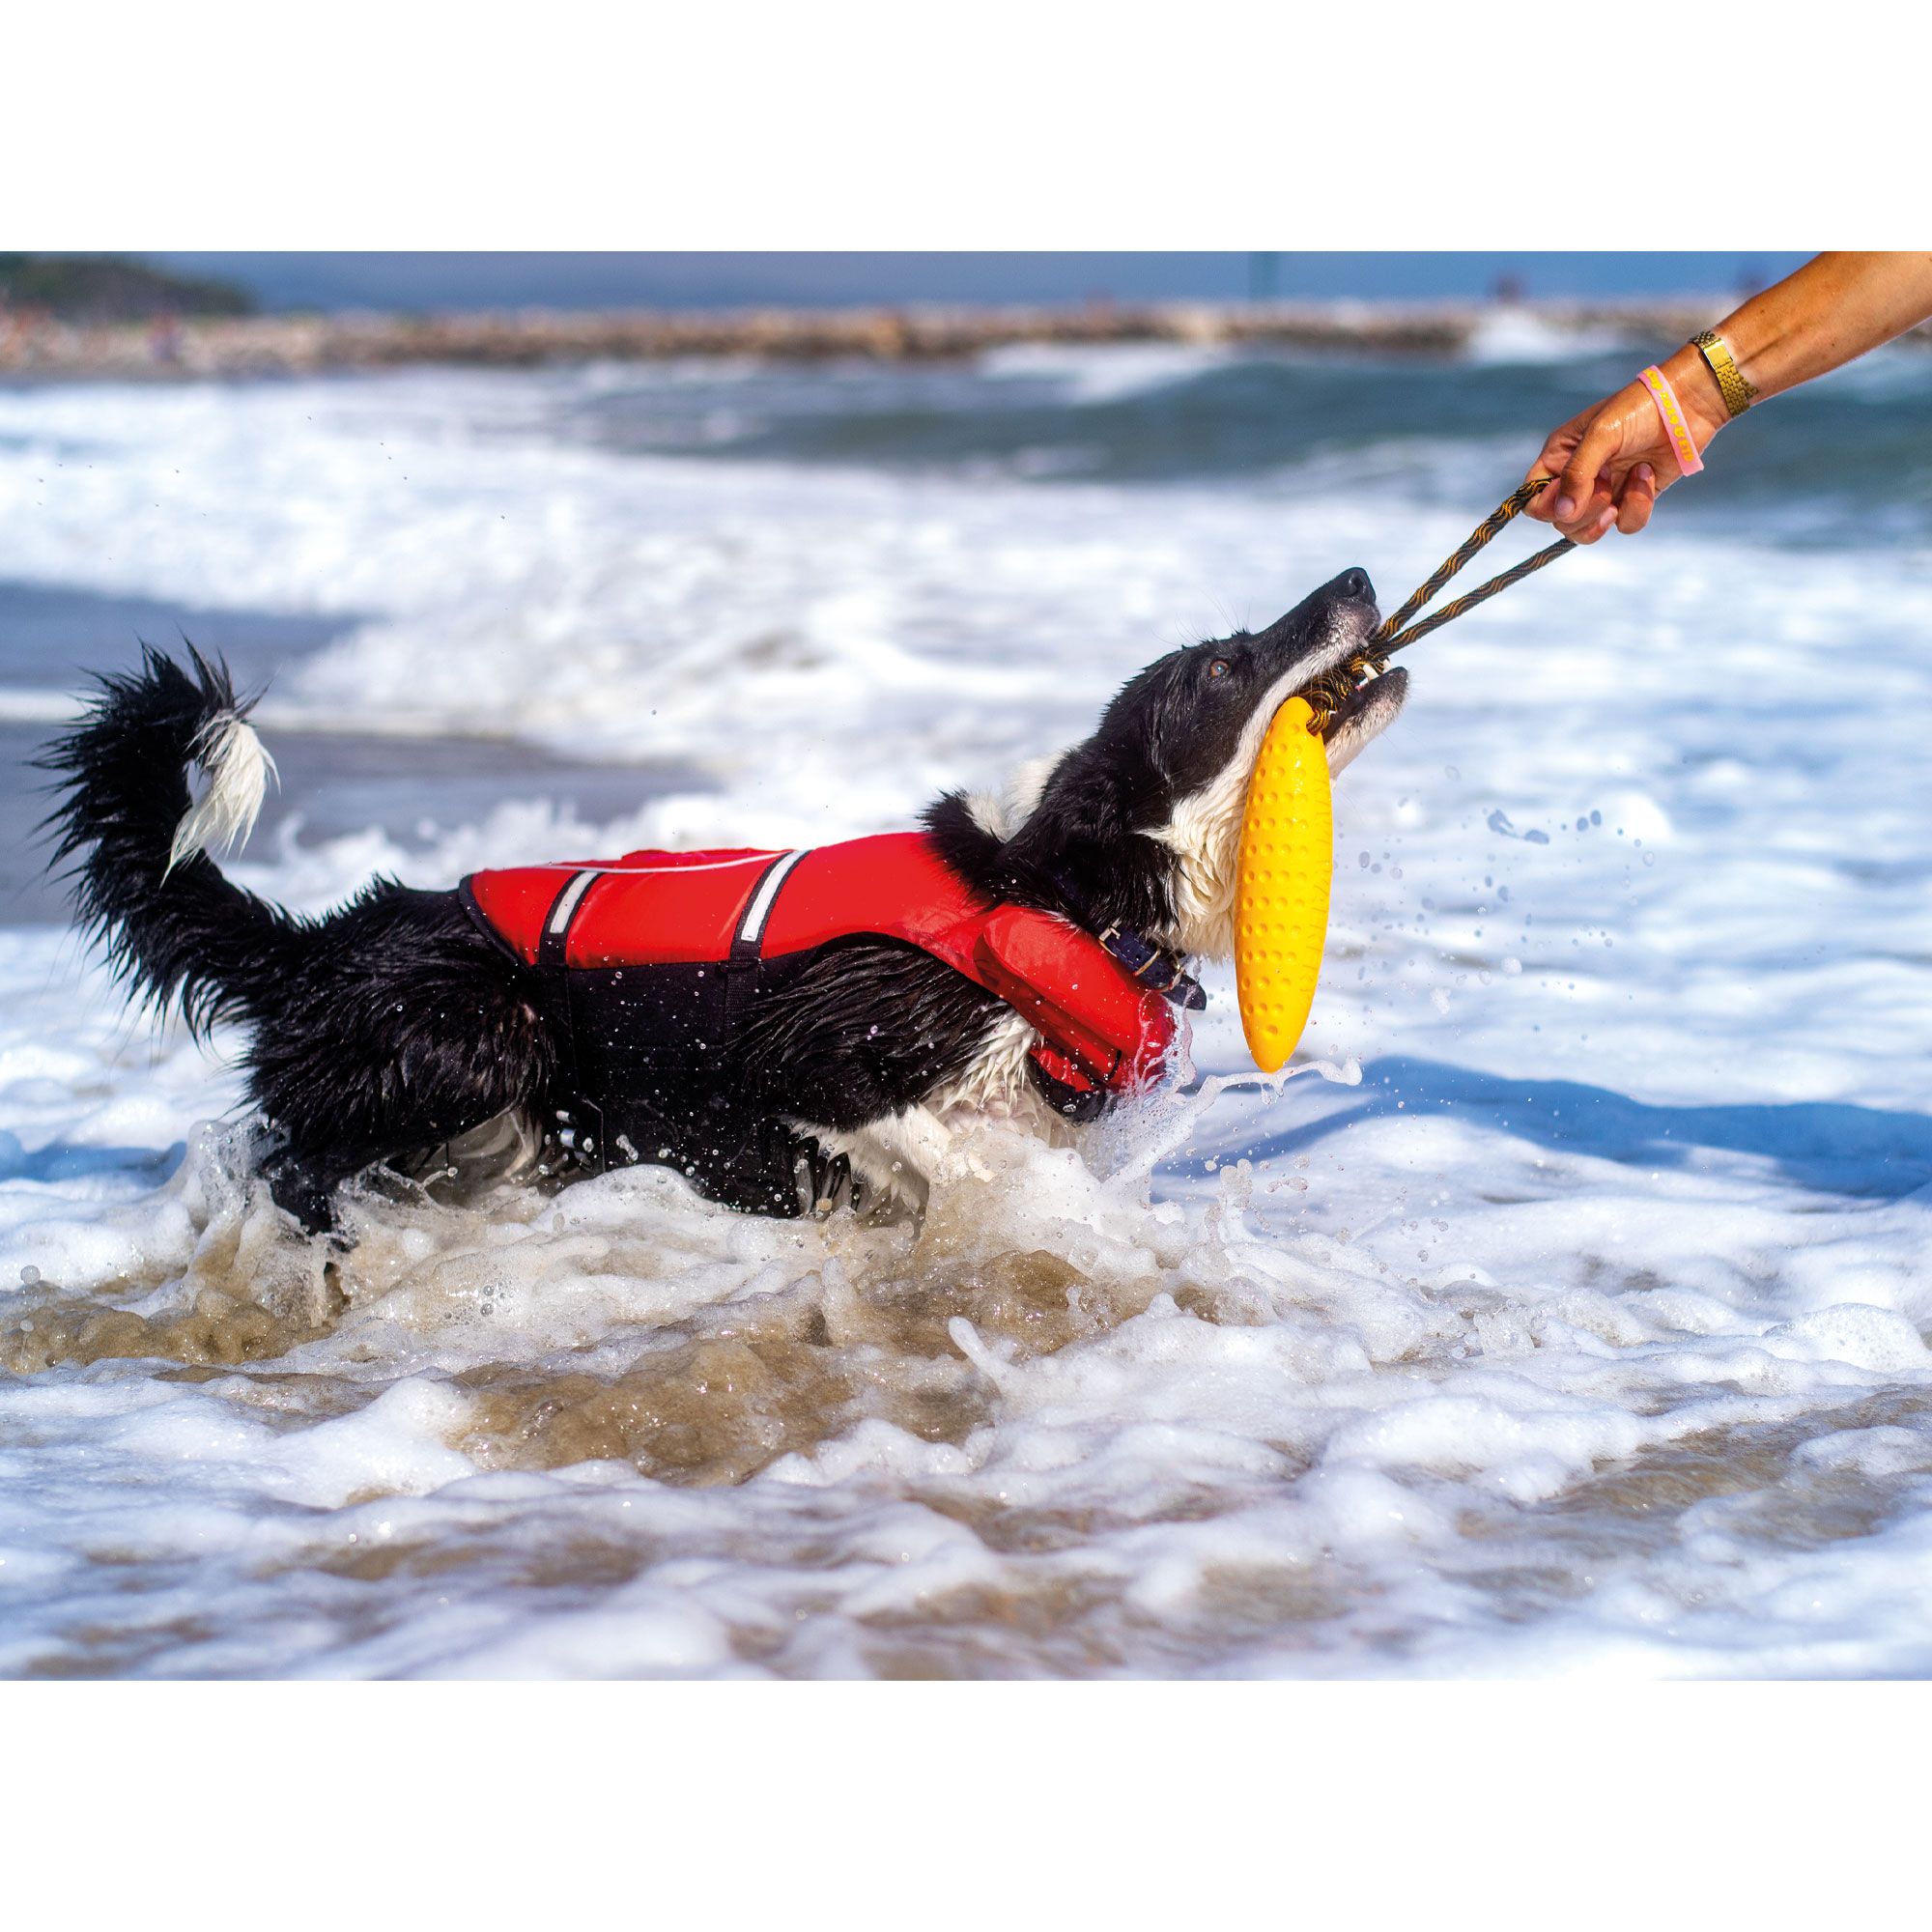
{"type": "MultiPolygon", "coordinates": [[[[1922,15],[102,0],[8,247],[1897,247],[1922,15]]],[[[1915,228],[1917,224],[1917,228],[1915,228]]]]}

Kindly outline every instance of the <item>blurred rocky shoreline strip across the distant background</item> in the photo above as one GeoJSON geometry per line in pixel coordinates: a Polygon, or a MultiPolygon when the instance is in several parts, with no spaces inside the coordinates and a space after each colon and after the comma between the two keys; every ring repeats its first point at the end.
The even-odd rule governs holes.
{"type": "MultiPolygon", "coordinates": [[[[412,363],[531,367],[759,355],[798,361],[939,361],[1012,344],[1188,342],[1453,355],[1486,328],[1683,338],[1735,298],[1636,303],[1119,303],[738,311],[549,311],[481,315],[251,315],[77,325],[0,311],[0,375],[249,377],[412,363]]],[[[1911,340],[1928,342],[1924,330],[1911,340]]]]}

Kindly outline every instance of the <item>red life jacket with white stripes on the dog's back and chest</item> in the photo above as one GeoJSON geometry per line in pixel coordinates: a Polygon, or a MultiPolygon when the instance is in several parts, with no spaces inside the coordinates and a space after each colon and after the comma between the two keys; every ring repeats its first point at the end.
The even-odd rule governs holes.
{"type": "Polygon", "coordinates": [[[978,898],[923,833],[516,866],[471,873],[462,893],[526,966],[775,960],[854,935],[898,939],[1024,1014],[1039,1036],[1034,1061],[1076,1094],[1150,1084],[1175,1037],[1167,1001],[1097,939],[1051,912],[978,898]]]}

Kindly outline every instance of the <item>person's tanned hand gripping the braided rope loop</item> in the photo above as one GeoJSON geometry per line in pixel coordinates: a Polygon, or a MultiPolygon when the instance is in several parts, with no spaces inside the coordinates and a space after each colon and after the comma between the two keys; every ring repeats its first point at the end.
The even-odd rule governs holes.
{"type": "MultiPolygon", "coordinates": [[[[1694,348],[1679,350],[1663,363],[1663,375],[1702,452],[1729,421],[1718,379],[1694,348]]],[[[1634,537],[1683,469],[1650,390],[1627,383],[1551,433],[1524,481],[1540,475],[1555,481],[1530,502],[1528,514],[1555,524],[1575,543],[1596,543],[1613,524],[1634,537]]]]}

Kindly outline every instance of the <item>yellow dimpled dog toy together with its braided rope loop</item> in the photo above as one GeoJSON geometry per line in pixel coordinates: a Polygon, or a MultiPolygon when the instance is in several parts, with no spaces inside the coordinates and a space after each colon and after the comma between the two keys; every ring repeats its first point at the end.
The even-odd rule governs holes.
{"type": "Polygon", "coordinates": [[[1381,624],[1358,657],[1316,678],[1306,692],[1291,697],[1267,726],[1262,755],[1254,761],[1254,775],[1248,781],[1235,875],[1235,983],[1240,997],[1240,1028],[1262,1072],[1279,1072],[1294,1051],[1308,1024],[1327,943],[1335,835],[1321,732],[1354,690],[1389,668],[1395,651],[1439,630],[1464,611],[1488,603],[1511,583],[1520,583],[1577,547],[1563,537],[1490,578],[1488,583],[1451,599],[1418,624],[1410,624],[1410,618],[1549,481],[1553,479],[1532,477],[1511,491],[1476,526],[1468,541],[1381,624]]]}

